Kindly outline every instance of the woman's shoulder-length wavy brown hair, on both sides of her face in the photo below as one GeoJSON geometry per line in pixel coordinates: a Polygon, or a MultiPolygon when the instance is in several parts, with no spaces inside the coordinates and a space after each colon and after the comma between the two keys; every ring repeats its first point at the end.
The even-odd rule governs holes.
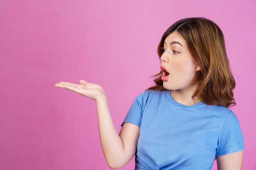
{"type": "MultiPolygon", "coordinates": [[[[185,39],[191,56],[201,69],[197,71],[195,81],[190,84],[197,84],[192,99],[198,96],[204,104],[235,106],[233,90],[236,82],[231,73],[224,36],[219,26],[204,17],[178,20],[165,31],[158,44],[159,60],[163,53],[161,47],[164,46],[165,38],[174,31],[185,39]]],[[[162,74],[160,70],[159,73],[151,75],[150,77],[156,77],[155,85],[146,90],[166,90],[161,79],[162,74]]]]}

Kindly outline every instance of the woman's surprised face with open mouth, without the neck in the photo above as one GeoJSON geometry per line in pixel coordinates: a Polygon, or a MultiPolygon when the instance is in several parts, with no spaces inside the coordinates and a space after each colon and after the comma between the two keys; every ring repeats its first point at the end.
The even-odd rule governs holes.
{"type": "Polygon", "coordinates": [[[160,58],[161,66],[164,66],[169,73],[168,78],[163,80],[164,88],[169,90],[187,88],[200,67],[190,55],[186,41],[174,31],[166,37],[163,50],[160,58]]]}

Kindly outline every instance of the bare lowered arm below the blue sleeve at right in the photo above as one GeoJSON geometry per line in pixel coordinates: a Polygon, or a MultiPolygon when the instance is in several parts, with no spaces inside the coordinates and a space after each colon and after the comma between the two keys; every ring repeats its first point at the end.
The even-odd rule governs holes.
{"type": "Polygon", "coordinates": [[[241,170],[243,161],[243,150],[217,156],[218,170],[241,170]]]}

